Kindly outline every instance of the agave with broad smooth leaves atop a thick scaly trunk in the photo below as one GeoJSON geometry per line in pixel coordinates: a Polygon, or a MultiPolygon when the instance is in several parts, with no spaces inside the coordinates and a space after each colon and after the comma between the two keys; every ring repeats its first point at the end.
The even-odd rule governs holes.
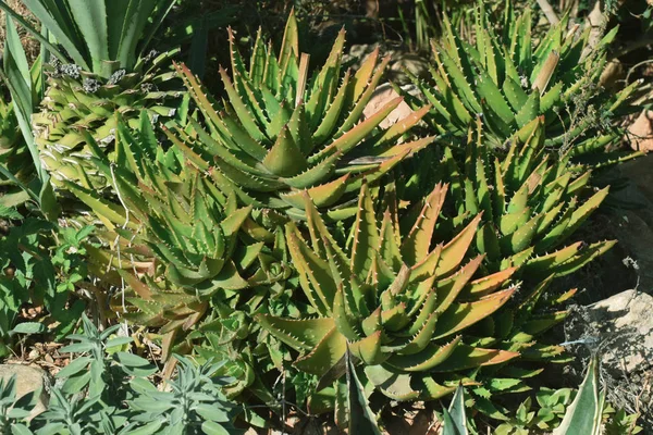
{"type": "Polygon", "coordinates": [[[109,153],[114,144],[115,112],[136,126],[144,109],[151,119],[169,120],[180,105],[183,92],[170,82],[174,72],[165,71],[173,52],[147,51],[174,0],[24,3],[63,49],[49,44],[0,1],[0,9],[57,57],[45,66],[49,78],[42,111],[33,116],[41,162],[59,188],[65,181],[81,181],[103,189],[110,184],[89,162],[85,132],[109,153]]]}

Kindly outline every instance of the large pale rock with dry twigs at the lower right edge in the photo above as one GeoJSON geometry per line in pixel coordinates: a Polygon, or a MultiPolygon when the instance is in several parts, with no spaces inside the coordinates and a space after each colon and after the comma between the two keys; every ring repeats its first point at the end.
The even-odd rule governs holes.
{"type": "MultiPolygon", "coordinates": [[[[653,297],[627,290],[575,307],[565,322],[565,335],[567,341],[597,339],[590,347],[601,352],[608,400],[630,413],[639,412],[644,433],[653,433],[653,297]]],[[[569,349],[588,355],[583,345],[569,349]]]]}

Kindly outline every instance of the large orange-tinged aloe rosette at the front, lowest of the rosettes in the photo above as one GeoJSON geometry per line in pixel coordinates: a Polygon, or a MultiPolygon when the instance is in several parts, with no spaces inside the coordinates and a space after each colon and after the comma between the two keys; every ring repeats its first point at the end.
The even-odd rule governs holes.
{"type": "MultiPolygon", "coordinates": [[[[333,373],[340,373],[338,362],[349,349],[365,382],[385,396],[435,399],[455,390],[466,373],[519,357],[477,346],[464,335],[504,306],[517,287],[505,288],[510,277],[505,273],[475,279],[483,256],[461,265],[480,216],[448,243],[431,246],[446,191],[446,185],[438,185],[409,232],[402,233],[392,195],[379,222],[364,185],[348,248],[335,241],[305,195],[310,237],[306,240],[288,223],[286,238],[313,314],[299,320],[257,316],[263,328],[298,352],[296,370],[321,377],[324,387],[338,377],[333,373]]],[[[317,391],[309,399],[311,410],[330,394],[336,409],[342,408],[342,382],[317,391]]]]}

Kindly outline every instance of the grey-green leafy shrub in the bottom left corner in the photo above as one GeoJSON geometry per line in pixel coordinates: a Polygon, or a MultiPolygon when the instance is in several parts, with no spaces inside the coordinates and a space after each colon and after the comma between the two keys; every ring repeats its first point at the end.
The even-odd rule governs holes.
{"type": "Polygon", "coordinates": [[[196,365],[177,357],[176,376],[158,389],[148,377],[158,370],[146,359],[121,349],[133,341],[103,332],[84,315],[83,334],[61,350],[77,356],[57,374],[47,410],[27,422],[40,391],[15,398],[15,378],[0,382],[0,433],[35,435],[236,434],[236,408],[224,399],[225,378],[214,376],[221,363],[196,365]],[[61,385],[60,385],[61,384],[61,385]]]}

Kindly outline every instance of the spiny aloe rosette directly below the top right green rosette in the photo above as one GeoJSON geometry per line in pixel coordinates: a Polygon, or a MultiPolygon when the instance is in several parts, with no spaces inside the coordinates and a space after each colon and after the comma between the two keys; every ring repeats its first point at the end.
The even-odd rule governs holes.
{"type": "Polygon", "coordinates": [[[537,282],[564,276],[614,246],[614,241],[564,245],[601,206],[608,188],[591,194],[591,171],[578,171],[571,153],[547,154],[543,116],[509,139],[509,149],[495,156],[483,141],[480,122],[469,135],[463,159],[444,151],[438,178],[452,183],[457,226],[482,212],[476,249],[486,256],[489,271],[520,268],[537,282]]]}

